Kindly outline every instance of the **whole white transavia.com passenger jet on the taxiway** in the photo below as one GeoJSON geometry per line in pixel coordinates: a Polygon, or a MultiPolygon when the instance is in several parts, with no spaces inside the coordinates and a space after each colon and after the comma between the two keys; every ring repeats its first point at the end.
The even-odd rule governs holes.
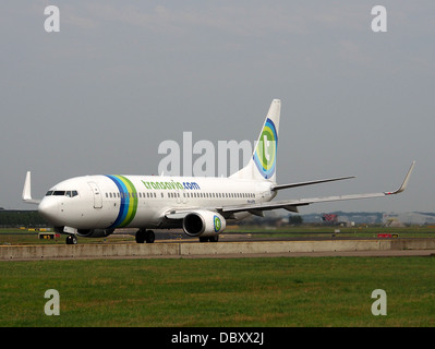
{"type": "Polygon", "coordinates": [[[277,149],[281,100],[274,99],[266,115],[249,163],[228,178],[100,174],[71,178],[50,188],[41,200],[32,198],[27,171],[22,198],[38,204],[38,213],[67,234],[67,244],[76,237],[107,237],[118,228],[137,229],[137,243],[153,243],[153,229],[182,228],[201,242],[217,242],[227,221],[265,210],[283,208],[298,213],[299,206],[314,203],[385,197],[403,192],[415,161],[400,188],[392,192],[298,198],[274,202],[278,191],[354,178],[339,177],[278,184],[277,149]]]}

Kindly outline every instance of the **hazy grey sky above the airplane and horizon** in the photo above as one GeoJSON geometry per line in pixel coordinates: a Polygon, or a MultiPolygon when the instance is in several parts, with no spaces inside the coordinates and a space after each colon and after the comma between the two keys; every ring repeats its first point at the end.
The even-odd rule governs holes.
{"type": "MultiPolygon", "coordinates": [[[[277,181],[355,179],[279,200],[397,189],[322,212],[434,212],[435,2],[7,0],[0,11],[0,207],[99,173],[157,174],[158,146],[254,142],[282,101],[277,181]],[[48,33],[48,5],[60,31],[48,33]]],[[[194,157],[195,159],[195,157],[194,157]]]]}

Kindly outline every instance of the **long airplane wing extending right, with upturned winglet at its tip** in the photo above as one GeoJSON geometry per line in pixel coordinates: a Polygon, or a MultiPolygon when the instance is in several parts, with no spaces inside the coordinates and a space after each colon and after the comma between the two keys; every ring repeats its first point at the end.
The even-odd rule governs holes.
{"type": "Polygon", "coordinates": [[[389,195],[395,195],[403,192],[407,186],[411,176],[411,172],[415,166],[415,161],[412,161],[408,173],[400,185],[400,188],[392,192],[380,192],[380,193],[370,193],[370,194],[353,194],[353,195],[336,195],[336,196],[325,196],[325,197],[312,197],[312,198],[299,198],[279,202],[268,202],[262,204],[246,204],[246,205],[233,205],[233,206],[222,206],[218,208],[218,212],[225,217],[231,217],[232,214],[239,212],[249,212],[253,215],[262,215],[263,210],[283,208],[290,212],[299,212],[299,206],[306,206],[315,203],[333,202],[333,201],[345,201],[345,200],[359,200],[359,198],[370,198],[370,197],[385,197],[389,195]]]}

